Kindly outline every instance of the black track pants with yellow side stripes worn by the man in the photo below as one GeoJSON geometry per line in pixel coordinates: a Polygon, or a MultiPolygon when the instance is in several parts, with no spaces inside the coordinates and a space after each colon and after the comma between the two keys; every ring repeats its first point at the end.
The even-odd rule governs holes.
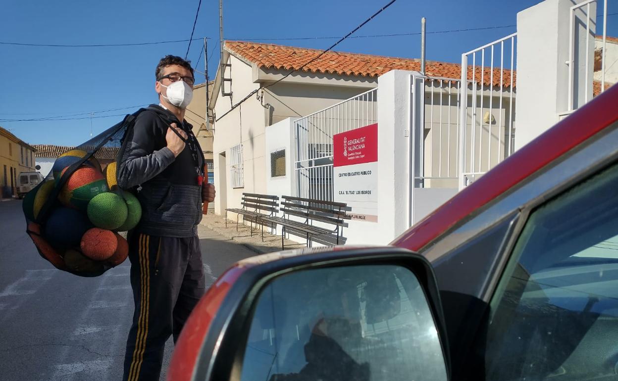
{"type": "Polygon", "coordinates": [[[132,233],[129,260],[135,312],[122,379],[157,381],[165,342],[176,342],[205,291],[200,240],[132,233]]]}

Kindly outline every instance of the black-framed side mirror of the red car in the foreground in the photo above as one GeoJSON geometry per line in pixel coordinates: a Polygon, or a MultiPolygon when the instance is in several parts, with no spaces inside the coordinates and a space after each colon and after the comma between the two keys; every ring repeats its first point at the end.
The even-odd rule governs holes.
{"type": "MultiPolygon", "coordinates": [[[[449,379],[438,288],[425,258],[390,247],[302,252],[237,265],[245,270],[216,311],[193,380],[449,379]]],[[[184,339],[185,331],[180,351],[184,339]]]]}

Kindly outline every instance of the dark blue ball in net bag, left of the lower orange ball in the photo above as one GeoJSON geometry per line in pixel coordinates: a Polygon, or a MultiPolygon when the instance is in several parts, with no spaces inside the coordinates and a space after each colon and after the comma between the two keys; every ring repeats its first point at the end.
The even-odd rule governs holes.
{"type": "Polygon", "coordinates": [[[56,249],[78,247],[83,234],[92,227],[85,213],[57,207],[44,224],[43,237],[56,249]]]}

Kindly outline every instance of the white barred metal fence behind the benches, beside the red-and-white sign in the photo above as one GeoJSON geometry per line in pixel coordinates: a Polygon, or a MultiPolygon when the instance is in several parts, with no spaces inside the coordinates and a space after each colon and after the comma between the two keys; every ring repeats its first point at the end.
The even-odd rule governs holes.
{"type": "Polygon", "coordinates": [[[294,122],[296,195],[332,201],[332,136],[378,121],[378,89],[294,122]]]}

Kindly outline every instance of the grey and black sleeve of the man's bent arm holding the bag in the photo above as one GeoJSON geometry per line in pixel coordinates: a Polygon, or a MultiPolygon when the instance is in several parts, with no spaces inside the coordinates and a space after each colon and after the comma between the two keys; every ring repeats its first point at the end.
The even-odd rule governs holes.
{"type": "Polygon", "coordinates": [[[117,180],[121,188],[129,189],[133,186],[147,182],[160,174],[168,165],[174,162],[174,153],[164,146],[158,148],[157,141],[165,135],[156,126],[153,115],[150,112],[140,114],[127,133],[126,146],[121,162],[119,163],[117,180]],[[143,115],[143,117],[142,117],[143,115]]]}

